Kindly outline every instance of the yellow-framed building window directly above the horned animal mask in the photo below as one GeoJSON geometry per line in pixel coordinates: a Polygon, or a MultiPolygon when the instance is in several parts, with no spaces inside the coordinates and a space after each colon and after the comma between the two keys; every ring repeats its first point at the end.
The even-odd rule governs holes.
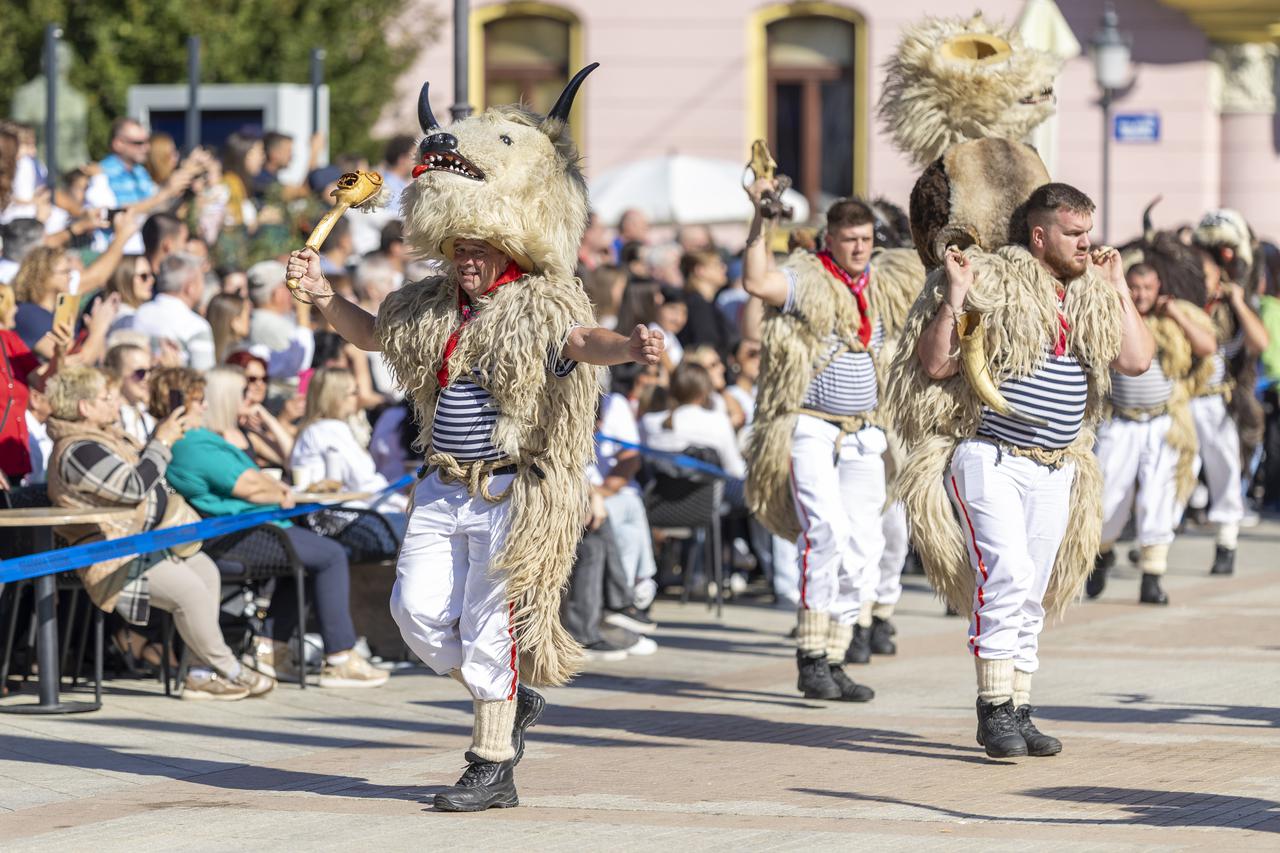
{"type": "Polygon", "coordinates": [[[552,108],[570,76],[570,24],[509,15],[484,26],[484,102],[552,108]]]}

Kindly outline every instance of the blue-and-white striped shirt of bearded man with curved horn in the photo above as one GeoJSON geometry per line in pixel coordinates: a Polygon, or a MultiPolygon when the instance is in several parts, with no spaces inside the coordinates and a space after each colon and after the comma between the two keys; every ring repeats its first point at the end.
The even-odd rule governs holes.
{"type": "Polygon", "coordinates": [[[1043,365],[1030,375],[1000,383],[1000,393],[1019,410],[1047,420],[1048,426],[984,409],[978,435],[1018,447],[1060,450],[1080,434],[1089,384],[1074,353],[1047,351],[1043,365]]]}

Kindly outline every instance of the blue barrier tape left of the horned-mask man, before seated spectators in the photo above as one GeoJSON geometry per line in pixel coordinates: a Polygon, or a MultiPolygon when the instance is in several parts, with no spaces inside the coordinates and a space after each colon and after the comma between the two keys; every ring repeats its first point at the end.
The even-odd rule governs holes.
{"type": "MultiPolygon", "coordinates": [[[[379,492],[378,496],[399,491],[412,482],[413,476],[406,474],[379,492]]],[[[371,498],[371,501],[376,501],[378,496],[371,498]]],[[[148,530],[147,533],[136,533],[131,537],[120,537],[119,539],[90,542],[87,544],[70,546],[69,548],[58,548],[44,553],[3,560],[0,561],[0,583],[8,584],[15,580],[27,580],[29,578],[38,578],[40,575],[51,575],[70,569],[92,566],[96,562],[115,560],[118,557],[132,557],[140,553],[164,551],[165,548],[172,548],[186,542],[212,539],[228,533],[256,528],[261,524],[284,521],[285,519],[315,512],[316,510],[332,510],[339,506],[342,505],[305,503],[292,510],[260,510],[242,515],[225,515],[183,524],[177,528],[148,530]]]]}

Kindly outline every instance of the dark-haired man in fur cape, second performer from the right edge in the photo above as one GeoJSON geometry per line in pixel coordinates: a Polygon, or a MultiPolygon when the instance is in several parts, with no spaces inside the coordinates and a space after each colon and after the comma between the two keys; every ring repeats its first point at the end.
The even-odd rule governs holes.
{"type": "MultiPolygon", "coordinates": [[[[1178,251],[1171,236],[1164,241],[1178,251]]],[[[1198,365],[1216,350],[1208,316],[1194,302],[1162,293],[1174,266],[1172,254],[1149,246],[1143,260],[1125,273],[1134,306],[1156,341],[1151,368],[1137,377],[1112,371],[1110,418],[1098,428],[1094,452],[1102,469],[1102,546],[1085,592],[1098,597],[1107,570],[1115,564],[1112,547],[1129,523],[1133,508],[1138,533],[1138,567],[1144,605],[1167,605],[1160,585],[1174,540],[1178,510],[1196,482],[1196,425],[1189,406],[1198,365]]]]}

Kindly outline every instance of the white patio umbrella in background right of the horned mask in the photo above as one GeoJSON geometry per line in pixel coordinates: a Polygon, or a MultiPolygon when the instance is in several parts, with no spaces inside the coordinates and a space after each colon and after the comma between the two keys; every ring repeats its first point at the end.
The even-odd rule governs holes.
{"type": "MultiPolygon", "coordinates": [[[[591,209],[607,223],[637,207],[655,224],[710,225],[745,223],[751,202],[742,191],[745,164],[671,154],[634,160],[588,181],[591,209]]],[[[809,205],[795,190],[783,193],[795,222],[809,218],[809,205]]]]}

